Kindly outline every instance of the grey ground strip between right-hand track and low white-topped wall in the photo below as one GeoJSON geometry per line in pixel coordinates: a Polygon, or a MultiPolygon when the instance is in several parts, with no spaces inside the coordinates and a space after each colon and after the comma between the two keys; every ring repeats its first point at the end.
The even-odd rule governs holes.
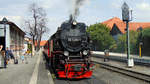
{"type": "Polygon", "coordinates": [[[147,66],[134,65],[132,68],[129,68],[127,66],[127,63],[124,63],[124,62],[118,62],[118,61],[113,61],[113,60],[104,62],[103,58],[95,58],[95,57],[92,57],[92,61],[103,63],[103,64],[108,64],[111,66],[116,66],[122,69],[130,70],[130,71],[134,71],[137,73],[142,73],[142,74],[146,74],[150,76],[150,67],[147,67],[147,66]]]}

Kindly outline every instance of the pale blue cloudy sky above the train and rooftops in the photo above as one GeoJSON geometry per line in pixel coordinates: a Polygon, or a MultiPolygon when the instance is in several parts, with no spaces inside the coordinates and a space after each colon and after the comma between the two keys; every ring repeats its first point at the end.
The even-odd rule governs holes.
{"type": "MultiPolygon", "coordinates": [[[[0,20],[6,17],[24,30],[24,21],[31,17],[29,5],[37,3],[46,10],[48,28],[43,40],[47,40],[62,22],[69,19],[73,0],[0,0],[0,20]]],[[[126,2],[133,10],[133,22],[150,22],[150,0],[85,0],[80,7],[78,22],[87,25],[100,23],[121,16],[121,6],[126,2]]]]}

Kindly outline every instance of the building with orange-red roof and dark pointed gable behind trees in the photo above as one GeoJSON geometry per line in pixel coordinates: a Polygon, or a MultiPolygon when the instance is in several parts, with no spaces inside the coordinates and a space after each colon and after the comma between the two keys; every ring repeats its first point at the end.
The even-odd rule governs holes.
{"type": "MultiPolygon", "coordinates": [[[[126,23],[118,17],[104,21],[102,24],[110,28],[110,34],[115,40],[117,40],[119,35],[126,33],[126,23]]],[[[129,22],[129,30],[138,31],[145,28],[150,28],[150,22],[129,22]]]]}

